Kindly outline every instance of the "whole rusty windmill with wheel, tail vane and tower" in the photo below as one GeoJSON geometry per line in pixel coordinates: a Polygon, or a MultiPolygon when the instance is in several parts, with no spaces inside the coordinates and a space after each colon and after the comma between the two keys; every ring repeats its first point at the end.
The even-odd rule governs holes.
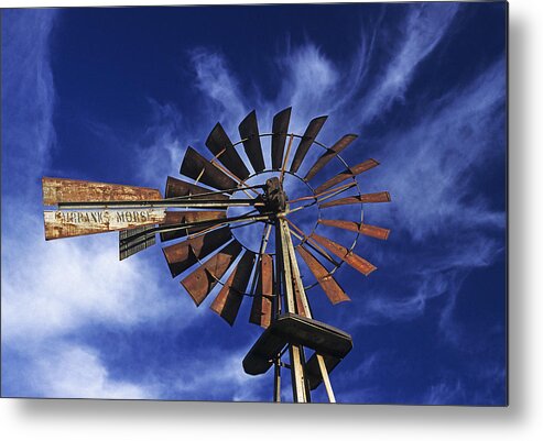
{"type": "Polygon", "coordinates": [[[236,143],[217,123],[205,143],[211,158],[188,147],[180,170],[184,178],[167,177],[164,197],[152,188],[44,177],[43,202],[54,207],[44,211],[45,239],[119,231],[119,256],[124,260],[154,245],[159,234],[172,277],[181,276],[196,306],[218,291],[210,309],[234,326],[243,299],[251,299],[249,321],[264,330],[243,359],[243,370],[261,375],[273,366],[274,401],[281,400],[282,370],[287,368],[295,403],[309,403],[322,384],[335,403],[329,373],[352,349],[352,339],[313,318],[306,291],[321,286],[332,304],[349,300],[334,274],[344,263],[366,276],[376,269],[354,249],[360,234],[388,239],[388,229],[363,222],[362,205],[388,202],[390,195],[360,190],[357,177],[379,163],[345,162],[340,153],[356,135],[328,147],[316,140],[327,117],[312,120],[303,134],[289,132],[290,118],[291,108],[282,110],[272,131],[260,133],[252,111],[239,124],[236,143]],[[263,142],[271,145],[269,167],[263,142]],[[313,154],[316,148],[319,155],[313,154]],[[333,161],[341,170],[318,184],[333,161]],[[305,194],[289,194],[292,183],[305,194]],[[337,207],[341,219],[327,218],[337,207]],[[307,231],[308,223],[294,218],[309,209],[315,220],[307,231]],[[356,209],[358,219],[343,219],[356,209]],[[254,228],[258,236],[243,242],[239,232],[254,228]],[[344,246],[317,234],[318,228],[355,238],[344,246]],[[313,285],[304,285],[297,256],[316,280],[313,285]]]}

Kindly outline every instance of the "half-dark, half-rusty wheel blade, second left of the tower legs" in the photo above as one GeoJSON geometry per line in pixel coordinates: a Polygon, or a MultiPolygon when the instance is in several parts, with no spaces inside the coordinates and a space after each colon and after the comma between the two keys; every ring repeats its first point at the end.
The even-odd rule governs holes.
{"type": "Polygon", "coordinates": [[[254,253],[247,251],[234,268],[210,308],[234,326],[254,266],[254,253]]]}

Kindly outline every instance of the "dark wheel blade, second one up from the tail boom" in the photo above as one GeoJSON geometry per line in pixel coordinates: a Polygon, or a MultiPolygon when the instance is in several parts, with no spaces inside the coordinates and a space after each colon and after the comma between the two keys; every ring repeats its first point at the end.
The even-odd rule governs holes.
{"type": "Polygon", "coordinates": [[[231,188],[237,186],[236,180],[222,173],[193,147],[187,147],[180,173],[230,195],[234,192],[231,188]]]}

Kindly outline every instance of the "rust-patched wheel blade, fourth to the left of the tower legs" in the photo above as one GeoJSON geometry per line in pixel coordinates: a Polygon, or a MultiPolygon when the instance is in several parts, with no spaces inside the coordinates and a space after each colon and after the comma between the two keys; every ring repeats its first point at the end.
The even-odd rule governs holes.
{"type": "Polygon", "coordinates": [[[198,258],[218,250],[231,238],[230,229],[225,227],[162,249],[172,277],[178,276],[197,263],[198,258]]]}

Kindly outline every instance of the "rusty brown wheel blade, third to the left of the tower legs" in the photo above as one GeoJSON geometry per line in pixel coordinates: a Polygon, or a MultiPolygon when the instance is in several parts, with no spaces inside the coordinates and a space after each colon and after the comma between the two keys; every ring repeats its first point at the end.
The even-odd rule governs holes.
{"type": "Polygon", "coordinates": [[[240,252],[240,243],[234,240],[196,271],[181,280],[181,284],[193,298],[196,306],[199,306],[205,300],[217,282],[222,278],[230,265],[236,261],[236,257],[240,252]]]}

